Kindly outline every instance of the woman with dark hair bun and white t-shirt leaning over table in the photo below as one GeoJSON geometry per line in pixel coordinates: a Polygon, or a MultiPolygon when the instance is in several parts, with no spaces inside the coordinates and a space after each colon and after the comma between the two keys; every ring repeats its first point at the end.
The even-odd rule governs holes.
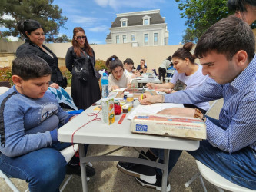
{"type": "MultiPolygon", "coordinates": [[[[148,88],[155,88],[157,91],[165,91],[167,94],[185,89],[195,89],[201,86],[207,80],[208,75],[202,74],[202,66],[194,62],[194,55],[191,54],[192,42],[186,43],[182,48],[178,48],[172,55],[172,62],[176,69],[171,81],[165,84],[148,83],[148,88]]],[[[198,108],[205,113],[208,108],[208,102],[195,104],[195,106],[186,106],[198,108]]]]}

